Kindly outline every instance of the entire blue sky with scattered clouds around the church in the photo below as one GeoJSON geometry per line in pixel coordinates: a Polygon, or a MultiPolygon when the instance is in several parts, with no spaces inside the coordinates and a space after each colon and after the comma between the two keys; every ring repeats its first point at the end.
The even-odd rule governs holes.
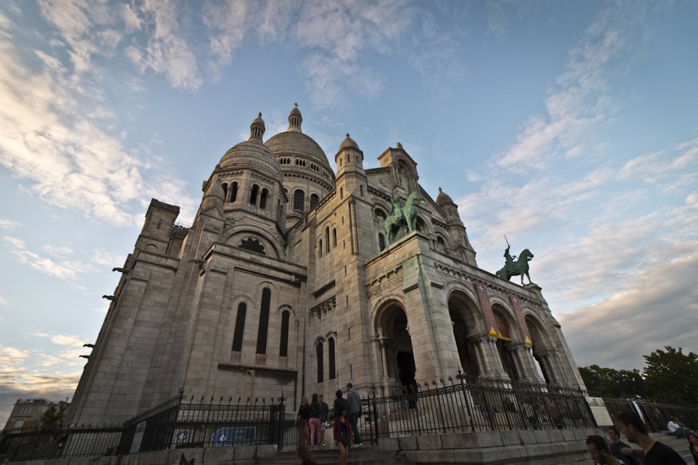
{"type": "MultiPolygon", "coordinates": [[[[0,3],[0,418],[72,395],[151,198],[190,223],[262,112],[365,167],[401,142],[481,268],[531,277],[577,363],[698,351],[698,3],[0,3]]],[[[514,278],[515,279],[515,278],[514,278]]]]}

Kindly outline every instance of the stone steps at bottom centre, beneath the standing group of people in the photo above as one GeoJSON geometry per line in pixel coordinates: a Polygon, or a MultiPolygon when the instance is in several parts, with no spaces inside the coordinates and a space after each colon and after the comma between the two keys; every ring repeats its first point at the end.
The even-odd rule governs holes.
{"type": "MultiPolygon", "coordinates": [[[[339,450],[337,448],[315,449],[312,451],[318,465],[336,464],[339,460],[339,450]]],[[[257,464],[293,464],[298,465],[300,459],[296,457],[295,450],[285,450],[279,452],[276,457],[269,459],[258,458],[257,464]]],[[[349,451],[347,464],[352,465],[391,465],[406,464],[404,455],[399,455],[393,450],[378,450],[376,445],[362,445],[362,447],[352,447],[349,451]]]]}

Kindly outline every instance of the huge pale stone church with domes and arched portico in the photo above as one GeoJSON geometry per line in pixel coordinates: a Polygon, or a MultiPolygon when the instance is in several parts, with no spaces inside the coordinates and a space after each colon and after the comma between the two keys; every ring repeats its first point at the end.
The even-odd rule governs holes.
{"type": "Polygon", "coordinates": [[[295,408],[348,381],[393,395],[459,369],[584,387],[540,287],[477,267],[456,204],[419,185],[401,144],[364,169],[347,135],[333,167],[297,107],[288,123],[264,142],[260,114],[211,160],[191,227],[151,201],[69,422],[123,422],[180,388],[295,408]],[[384,229],[410,201],[413,227],[384,229]]]}

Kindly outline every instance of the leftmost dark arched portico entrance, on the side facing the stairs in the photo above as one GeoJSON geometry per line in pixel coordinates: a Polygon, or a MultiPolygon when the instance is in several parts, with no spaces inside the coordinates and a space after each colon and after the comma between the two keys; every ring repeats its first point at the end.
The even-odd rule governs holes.
{"type": "Polygon", "coordinates": [[[417,369],[407,314],[401,303],[392,300],[378,312],[376,333],[383,352],[383,376],[392,388],[409,390],[416,382],[417,369]]]}

